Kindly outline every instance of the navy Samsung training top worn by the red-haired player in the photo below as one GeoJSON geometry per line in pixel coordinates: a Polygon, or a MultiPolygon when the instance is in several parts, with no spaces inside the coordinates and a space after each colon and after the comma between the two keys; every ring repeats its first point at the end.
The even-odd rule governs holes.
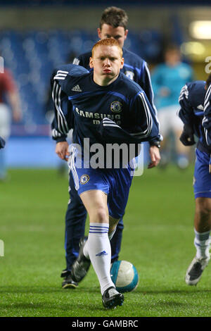
{"type": "MultiPolygon", "coordinates": [[[[136,82],[123,73],[107,86],[97,85],[93,73],[79,65],[62,65],[51,76],[51,87],[55,105],[55,130],[67,135],[69,124],[74,123],[73,139],[83,148],[84,138],[90,144],[106,144],[101,135],[101,122],[113,121],[108,142],[136,143],[159,140],[158,123],[145,92],[136,82]],[[68,108],[68,99],[72,110],[68,108]],[[129,136],[128,136],[129,135],[129,136]]],[[[105,124],[105,123],[104,123],[105,124]]]]}

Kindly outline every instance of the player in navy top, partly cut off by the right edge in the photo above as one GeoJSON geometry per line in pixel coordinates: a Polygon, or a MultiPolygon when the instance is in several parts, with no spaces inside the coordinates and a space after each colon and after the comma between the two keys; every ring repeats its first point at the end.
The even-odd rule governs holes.
{"type": "Polygon", "coordinates": [[[196,164],[193,177],[196,211],[194,216],[194,245],[196,256],[186,271],[186,284],[197,285],[210,260],[211,230],[211,171],[210,171],[210,91],[211,75],[207,81],[188,82],[179,96],[179,117],[184,123],[180,140],[185,146],[195,144],[196,164]],[[207,91],[207,94],[206,94],[207,91]],[[205,126],[205,131],[203,129],[205,126]]]}

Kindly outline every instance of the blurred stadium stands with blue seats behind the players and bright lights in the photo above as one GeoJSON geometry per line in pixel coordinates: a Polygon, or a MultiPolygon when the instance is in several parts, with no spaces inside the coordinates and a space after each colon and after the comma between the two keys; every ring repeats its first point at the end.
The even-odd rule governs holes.
{"type": "Polygon", "coordinates": [[[58,165],[50,137],[49,78],[57,65],[91,49],[107,6],[127,11],[124,46],[144,58],[150,69],[162,61],[163,46],[173,42],[181,46],[196,79],[206,79],[210,1],[0,1],[1,56],[18,84],[23,109],[23,120],[13,123],[6,146],[9,168],[58,165]]]}

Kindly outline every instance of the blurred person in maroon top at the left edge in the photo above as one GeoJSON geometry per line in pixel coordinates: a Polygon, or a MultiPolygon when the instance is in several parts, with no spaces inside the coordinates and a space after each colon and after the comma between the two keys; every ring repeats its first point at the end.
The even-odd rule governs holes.
{"type": "MultiPolygon", "coordinates": [[[[15,84],[12,74],[4,69],[0,73],[0,136],[7,141],[11,134],[11,119],[15,122],[22,118],[20,109],[20,97],[18,87],[15,84]],[[11,116],[12,111],[12,116],[11,116]]],[[[0,181],[6,180],[5,152],[0,153],[0,181]]]]}

